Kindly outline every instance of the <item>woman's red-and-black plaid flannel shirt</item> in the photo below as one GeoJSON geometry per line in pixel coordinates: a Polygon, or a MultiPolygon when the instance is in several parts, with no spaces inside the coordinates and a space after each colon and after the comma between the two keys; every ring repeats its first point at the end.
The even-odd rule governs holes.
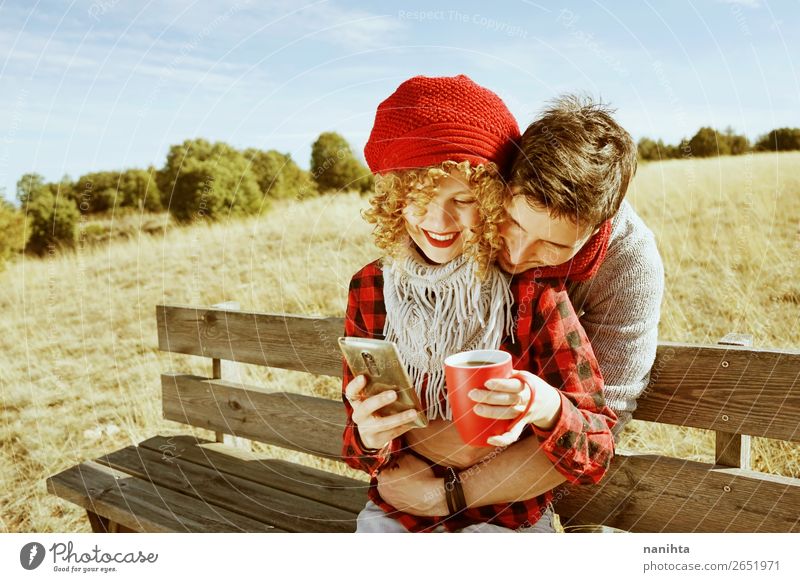
{"type": "MultiPolygon", "coordinates": [[[[560,389],[561,416],[552,430],[528,425],[520,439],[536,434],[555,468],[571,483],[597,483],[614,455],[611,428],[617,417],[605,404],[603,378],[578,316],[562,284],[537,282],[522,274],[511,282],[514,296],[515,338],[501,349],[511,353],[514,368],[528,370],[560,389]]],[[[345,335],[384,339],[386,306],[380,261],[370,263],[350,281],[345,335]]],[[[378,493],[377,475],[398,456],[408,454],[404,437],[380,451],[361,443],[353,422],[353,408],[344,387],[353,376],[344,363],[342,400],[347,410],[342,456],[348,465],[371,477],[369,498],[407,530],[429,532],[438,525],[457,531],[474,523],[488,522],[510,529],[536,523],[547,509],[553,492],[525,501],[468,508],[452,516],[416,516],[398,511],[378,493]]],[[[437,477],[443,468],[433,466],[437,477]]]]}

